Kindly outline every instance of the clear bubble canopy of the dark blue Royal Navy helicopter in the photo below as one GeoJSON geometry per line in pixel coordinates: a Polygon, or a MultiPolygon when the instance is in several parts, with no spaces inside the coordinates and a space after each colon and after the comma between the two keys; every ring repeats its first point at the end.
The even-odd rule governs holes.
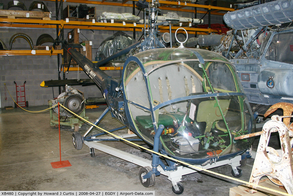
{"type": "Polygon", "coordinates": [[[160,150],[202,164],[242,153],[255,132],[251,108],[235,68],[223,56],[192,48],[158,48],[127,59],[123,70],[125,113],[130,127],[160,150]]]}

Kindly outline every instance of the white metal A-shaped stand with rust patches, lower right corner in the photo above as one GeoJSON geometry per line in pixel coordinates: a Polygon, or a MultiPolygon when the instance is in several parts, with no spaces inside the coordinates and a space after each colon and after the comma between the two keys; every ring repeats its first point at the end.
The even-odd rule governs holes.
{"type": "MultiPolygon", "coordinates": [[[[290,119],[291,117],[293,116],[273,115],[272,120],[266,122],[263,126],[249,182],[257,185],[261,177],[267,176],[276,185],[284,186],[288,194],[293,194],[293,158],[291,149],[293,132],[288,131],[288,128],[282,122],[282,118],[290,119]],[[268,146],[270,135],[273,132],[278,132],[280,135],[280,150],[268,146]]],[[[246,191],[250,193],[257,192],[256,187],[251,188],[246,191]]]]}

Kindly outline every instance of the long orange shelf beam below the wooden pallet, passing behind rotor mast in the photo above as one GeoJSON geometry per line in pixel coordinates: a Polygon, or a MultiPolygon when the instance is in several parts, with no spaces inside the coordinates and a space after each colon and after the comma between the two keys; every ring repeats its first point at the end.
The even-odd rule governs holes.
{"type": "MultiPolygon", "coordinates": [[[[0,18],[0,27],[19,27],[19,28],[51,28],[55,29],[56,25],[59,25],[61,28],[64,25],[64,29],[92,29],[92,30],[109,30],[109,31],[133,31],[137,29],[140,31],[144,28],[144,24],[121,24],[121,23],[103,23],[103,22],[86,22],[86,21],[69,21],[64,20],[60,21],[47,21],[47,20],[35,20],[35,19],[1,19],[0,18]]],[[[180,26],[171,26],[172,33],[180,28],[180,26]]],[[[159,26],[161,32],[169,32],[169,26],[159,26]]],[[[191,28],[184,27],[186,31],[189,31],[189,34],[201,34],[202,33],[217,33],[213,29],[201,29],[201,28],[191,28]]]]}

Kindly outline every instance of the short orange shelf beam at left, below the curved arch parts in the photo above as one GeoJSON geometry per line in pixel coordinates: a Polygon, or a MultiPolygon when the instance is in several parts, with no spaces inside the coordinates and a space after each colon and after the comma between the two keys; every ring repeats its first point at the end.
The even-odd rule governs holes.
{"type": "MultiPolygon", "coordinates": [[[[50,50],[36,50],[36,54],[32,54],[31,50],[0,50],[0,56],[20,56],[20,55],[50,55],[50,50]]],[[[62,54],[63,50],[54,50],[52,55],[62,54]]]]}

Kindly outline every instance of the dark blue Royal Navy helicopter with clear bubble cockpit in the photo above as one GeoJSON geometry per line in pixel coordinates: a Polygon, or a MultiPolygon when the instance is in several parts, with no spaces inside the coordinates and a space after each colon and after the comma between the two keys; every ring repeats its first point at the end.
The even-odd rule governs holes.
{"type": "MultiPolygon", "coordinates": [[[[73,44],[62,43],[107,102],[108,107],[93,124],[110,112],[125,125],[122,128],[132,130],[155,152],[193,165],[205,166],[246,152],[253,138],[234,137],[255,133],[255,120],[234,66],[218,53],[184,48],[183,42],[178,48],[172,48],[171,43],[166,48],[163,40],[171,41],[171,28],[163,38],[157,36],[161,24],[156,22],[158,1],[150,1],[147,6],[143,1],[138,3],[149,13],[143,41],[96,64],[76,51],[73,44]],[[120,80],[100,70],[100,65],[125,53],[129,57],[120,80]]],[[[84,135],[72,134],[77,150],[87,141],[101,141],[96,138],[100,134],[89,135],[92,129],[84,135]]],[[[94,155],[92,149],[91,153],[94,155]]],[[[176,170],[176,162],[166,162],[153,154],[152,167],[140,171],[142,185],[154,185],[154,177],[160,174],[158,165],[176,170]]],[[[240,177],[241,169],[232,167],[232,175],[240,177]]],[[[173,192],[183,192],[181,183],[172,184],[173,192]]]]}

